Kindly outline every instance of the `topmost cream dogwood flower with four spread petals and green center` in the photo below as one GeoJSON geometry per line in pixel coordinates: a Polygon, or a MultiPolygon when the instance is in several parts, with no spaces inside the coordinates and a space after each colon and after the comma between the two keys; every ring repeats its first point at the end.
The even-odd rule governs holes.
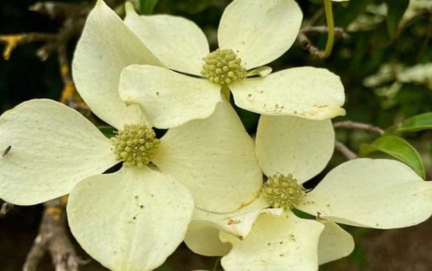
{"type": "MultiPolygon", "coordinates": [[[[339,77],[327,69],[305,66],[270,73],[270,67],[262,66],[281,56],[297,37],[302,12],[294,0],[232,1],[220,19],[219,49],[213,52],[209,51],[204,33],[185,18],[139,16],[130,4],[126,11],[125,31],[139,37],[163,64],[135,61],[124,68],[120,96],[126,102],[141,104],[156,127],[208,117],[220,101],[221,88],[226,87],[236,105],[261,114],[309,119],[344,114],[340,107],[344,102],[343,86],[339,77]],[[247,78],[252,75],[260,76],[247,78]]],[[[97,26],[103,21],[100,18],[97,26]]],[[[92,33],[98,29],[93,28],[92,33]]],[[[100,35],[108,36],[107,29],[110,32],[111,28],[107,25],[100,35]]],[[[90,27],[87,31],[90,33],[90,27]]],[[[114,34],[109,37],[115,38],[114,34]]],[[[116,50],[134,55],[129,47],[116,50]]],[[[81,66],[99,61],[85,52],[83,44],[81,48],[78,44],[78,52],[85,55],[85,59],[80,57],[81,66]]],[[[91,79],[90,75],[86,79],[91,79]]]]}

